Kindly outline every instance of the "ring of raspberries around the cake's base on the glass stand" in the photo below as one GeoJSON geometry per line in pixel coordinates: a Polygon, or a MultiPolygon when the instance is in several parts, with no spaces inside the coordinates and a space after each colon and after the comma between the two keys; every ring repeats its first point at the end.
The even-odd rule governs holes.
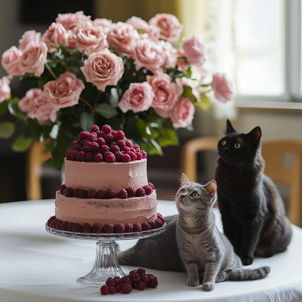
{"type": "Polygon", "coordinates": [[[149,231],[161,228],[165,224],[165,219],[162,214],[157,214],[157,219],[150,220],[143,223],[135,224],[123,224],[117,223],[115,226],[111,223],[106,223],[102,226],[100,223],[95,223],[91,226],[89,223],[74,223],[69,221],[63,221],[52,216],[47,220],[47,225],[53,229],[75,232],[75,233],[95,233],[95,234],[112,234],[112,233],[137,233],[142,231],[149,231]]]}

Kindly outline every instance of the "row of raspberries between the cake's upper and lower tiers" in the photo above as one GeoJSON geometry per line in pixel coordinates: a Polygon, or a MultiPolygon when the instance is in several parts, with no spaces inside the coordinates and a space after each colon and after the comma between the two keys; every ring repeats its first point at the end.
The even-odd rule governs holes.
{"type": "Polygon", "coordinates": [[[134,187],[128,187],[121,189],[118,193],[114,188],[108,188],[107,190],[85,190],[80,188],[71,188],[66,187],[66,185],[60,186],[60,193],[66,197],[79,197],[79,198],[121,198],[126,199],[133,196],[143,197],[150,195],[154,190],[154,186],[151,182],[148,182],[148,185],[143,186],[142,188],[135,189],[134,187]]]}

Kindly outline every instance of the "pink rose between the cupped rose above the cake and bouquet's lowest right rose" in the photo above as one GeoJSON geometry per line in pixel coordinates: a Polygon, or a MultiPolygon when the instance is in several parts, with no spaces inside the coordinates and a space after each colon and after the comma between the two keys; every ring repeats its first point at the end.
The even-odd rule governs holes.
{"type": "Polygon", "coordinates": [[[166,113],[164,114],[159,111],[159,115],[164,115],[165,118],[168,117],[169,113],[167,113],[167,111],[172,110],[178,97],[182,95],[182,85],[172,83],[170,76],[166,73],[159,73],[156,76],[147,76],[146,78],[154,92],[151,107],[165,111],[166,113]]]}

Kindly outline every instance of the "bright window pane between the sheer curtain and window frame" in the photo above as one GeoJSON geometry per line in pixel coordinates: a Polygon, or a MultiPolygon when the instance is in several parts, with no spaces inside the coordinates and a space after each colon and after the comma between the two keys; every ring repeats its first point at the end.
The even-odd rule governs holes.
{"type": "Polygon", "coordinates": [[[237,0],[235,47],[239,95],[285,92],[284,0],[237,0]]]}

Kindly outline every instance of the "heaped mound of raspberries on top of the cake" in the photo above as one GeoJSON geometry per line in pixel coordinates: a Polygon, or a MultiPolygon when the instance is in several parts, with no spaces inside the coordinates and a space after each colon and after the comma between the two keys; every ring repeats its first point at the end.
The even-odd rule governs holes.
{"type": "Polygon", "coordinates": [[[147,157],[146,151],[133,145],[122,130],[111,130],[109,125],[104,125],[101,131],[93,125],[90,133],[81,132],[71,148],[66,150],[66,159],[80,162],[130,162],[147,157]]]}

